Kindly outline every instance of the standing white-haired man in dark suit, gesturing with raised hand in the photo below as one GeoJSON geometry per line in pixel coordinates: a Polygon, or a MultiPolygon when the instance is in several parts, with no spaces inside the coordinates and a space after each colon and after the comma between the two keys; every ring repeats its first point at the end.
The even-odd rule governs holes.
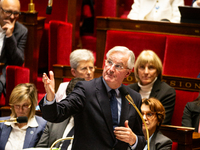
{"type": "Polygon", "coordinates": [[[136,110],[121,95],[123,86],[140,109],[141,96],[122,84],[134,66],[135,56],[131,50],[116,46],[106,54],[102,77],[78,82],[74,90],[61,102],[55,100],[53,72],[50,78],[43,74],[47,95],[39,105],[42,116],[51,122],[61,122],[74,115],[74,141],[72,150],[142,150],[146,143],[142,133],[142,122],[136,110]],[[117,107],[113,108],[111,90],[115,90],[117,107]],[[117,110],[117,123],[112,121],[113,110],[117,110]],[[116,127],[114,127],[116,125],[116,127]],[[133,132],[132,132],[133,131],[133,132]]]}

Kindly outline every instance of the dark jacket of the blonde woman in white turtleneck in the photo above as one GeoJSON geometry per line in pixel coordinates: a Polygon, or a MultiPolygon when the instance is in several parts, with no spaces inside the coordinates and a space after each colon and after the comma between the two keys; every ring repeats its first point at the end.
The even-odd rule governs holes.
{"type": "MultiPolygon", "coordinates": [[[[137,92],[140,91],[138,83],[130,84],[129,87],[137,92]]],[[[167,83],[157,79],[153,84],[150,97],[154,97],[160,100],[165,108],[166,115],[163,124],[171,124],[171,118],[174,112],[176,99],[176,91],[174,90],[174,88],[169,86],[167,83]]]]}

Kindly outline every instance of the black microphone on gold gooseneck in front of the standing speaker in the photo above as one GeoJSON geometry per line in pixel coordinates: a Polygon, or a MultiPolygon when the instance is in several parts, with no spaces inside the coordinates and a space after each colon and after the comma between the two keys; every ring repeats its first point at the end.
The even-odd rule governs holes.
{"type": "Polygon", "coordinates": [[[142,114],[140,113],[139,109],[137,108],[137,106],[135,105],[132,97],[130,96],[130,94],[128,93],[128,91],[126,90],[125,87],[121,86],[119,88],[119,91],[121,93],[121,95],[125,95],[125,98],[129,101],[129,103],[131,103],[131,105],[135,108],[135,110],[137,111],[137,113],[139,114],[140,118],[142,119],[142,122],[144,123],[145,125],[145,129],[146,129],[146,133],[147,133],[147,147],[148,147],[148,150],[150,150],[149,148],[149,131],[147,129],[147,125],[146,125],[146,122],[144,121],[144,118],[142,116],[142,114]]]}

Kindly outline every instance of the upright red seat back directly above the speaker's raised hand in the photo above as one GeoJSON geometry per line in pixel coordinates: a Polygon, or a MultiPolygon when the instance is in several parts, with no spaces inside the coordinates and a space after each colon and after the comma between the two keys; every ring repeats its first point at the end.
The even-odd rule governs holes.
{"type": "Polygon", "coordinates": [[[53,64],[70,65],[72,24],[56,20],[50,21],[49,24],[48,69],[53,70],[53,64]]]}

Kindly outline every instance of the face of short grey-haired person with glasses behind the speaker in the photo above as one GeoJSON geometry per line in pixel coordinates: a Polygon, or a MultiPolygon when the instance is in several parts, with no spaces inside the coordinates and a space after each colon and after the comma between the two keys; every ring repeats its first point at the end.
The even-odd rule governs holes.
{"type": "Polygon", "coordinates": [[[92,80],[94,78],[94,63],[90,61],[80,61],[76,69],[72,68],[72,74],[76,78],[84,78],[86,81],[92,80]]]}

